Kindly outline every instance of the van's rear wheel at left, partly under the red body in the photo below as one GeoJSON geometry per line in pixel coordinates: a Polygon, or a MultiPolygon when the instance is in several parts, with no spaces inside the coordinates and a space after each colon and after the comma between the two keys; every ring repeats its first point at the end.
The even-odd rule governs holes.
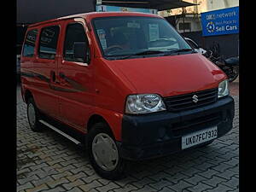
{"type": "Polygon", "coordinates": [[[30,125],[30,128],[32,131],[38,132],[42,131],[42,125],[39,122],[39,112],[38,108],[34,102],[34,100],[31,98],[27,101],[27,108],[26,108],[26,115],[28,124],[30,125]]]}

